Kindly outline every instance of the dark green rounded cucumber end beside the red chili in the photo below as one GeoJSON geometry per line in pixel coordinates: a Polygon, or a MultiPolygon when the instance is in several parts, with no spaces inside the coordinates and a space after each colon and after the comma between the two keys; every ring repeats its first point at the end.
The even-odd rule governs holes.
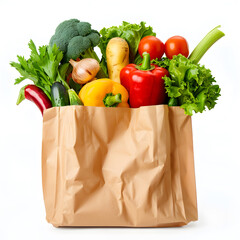
{"type": "Polygon", "coordinates": [[[70,104],[66,88],[60,83],[55,82],[51,87],[52,106],[61,107],[70,104]]]}

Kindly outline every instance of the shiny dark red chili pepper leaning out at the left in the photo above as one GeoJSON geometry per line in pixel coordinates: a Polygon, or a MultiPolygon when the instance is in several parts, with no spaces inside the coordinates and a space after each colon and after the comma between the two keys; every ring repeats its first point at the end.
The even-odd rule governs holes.
{"type": "Polygon", "coordinates": [[[25,98],[34,102],[41,113],[47,108],[52,107],[52,103],[43,90],[35,85],[27,85],[24,90],[25,98]]]}

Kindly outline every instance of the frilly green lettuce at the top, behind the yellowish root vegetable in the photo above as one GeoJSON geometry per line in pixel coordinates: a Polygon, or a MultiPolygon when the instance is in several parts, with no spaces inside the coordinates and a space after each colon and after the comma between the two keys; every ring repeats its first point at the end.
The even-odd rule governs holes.
{"type": "Polygon", "coordinates": [[[129,45],[129,60],[133,63],[137,55],[140,40],[145,36],[156,36],[152,27],[146,27],[145,24],[145,22],[141,22],[140,24],[130,24],[123,21],[122,25],[119,27],[113,26],[110,28],[103,28],[100,31],[101,38],[98,45],[102,52],[101,67],[105,70],[107,69],[106,48],[109,40],[114,37],[121,37],[127,41],[129,45]]]}

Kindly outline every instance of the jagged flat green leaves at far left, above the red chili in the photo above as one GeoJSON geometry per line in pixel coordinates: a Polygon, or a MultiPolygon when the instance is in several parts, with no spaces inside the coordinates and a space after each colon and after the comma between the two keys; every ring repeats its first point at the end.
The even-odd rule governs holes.
{"type": "MultiPolygon", "coordinates": [[[[53,46],[41,46],[38,51],[32,40],[28,44],[31,54],[29,59],[17,56],[17,62],[11,62],[10,65],[21,74],[21,77],[15,80],[19,84],[25,79],[30,79],[33,83],[41,88],[51,100],[51,86],[55,81],[61,82],[67,89],[68,84],[65,82],[64,73],[67,66],[62,65],[59,71],[59,64],[63,58],[63,53],[58,49],[56,44],[53,46]]],[[[24,100],[24,87],[21,88],[17,104],[24,100]]]]}

